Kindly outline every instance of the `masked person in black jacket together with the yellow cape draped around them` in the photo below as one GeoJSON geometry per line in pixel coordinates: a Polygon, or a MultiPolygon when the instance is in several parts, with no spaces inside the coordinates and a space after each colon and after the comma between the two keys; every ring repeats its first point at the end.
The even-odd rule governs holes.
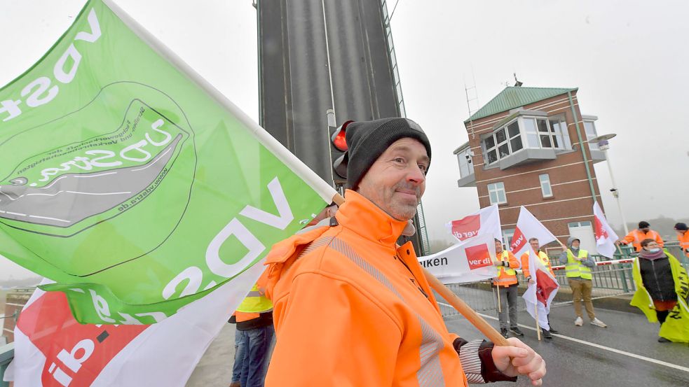
{"type": "Polygon", "coordinates": [[[689,276],[673,255],[653,239],[641,241],[632,275],[636,292],[631,304],[649,323],[660,323],[658,342],[689,342],[689,276]]]}

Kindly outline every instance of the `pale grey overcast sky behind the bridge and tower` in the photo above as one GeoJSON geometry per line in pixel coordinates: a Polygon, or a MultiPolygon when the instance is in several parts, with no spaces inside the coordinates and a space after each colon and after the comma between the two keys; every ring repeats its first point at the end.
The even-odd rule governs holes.
{"type": "MultiPolygon", "coordinates": [[[[0,85],[32,66],[83,3],[0,0],[0,85]]],[[[258,119],[250,0],[116,3],[258,119]]],[[[388,3],[392,12],[395,0],[388,3]]],[[[687,1],[400,0],[391,24],[407,116],[433,148],[423,198],[430,239],[449,239],[444,223],[478,209],[476,189],[457,187],[452,153],[468,141],[465,80],[475,78],[483,105],[515,72],[524,86],[579,87],[581,111],[599,117],[599,134],[618,134],[608,155],[628,222],[689,221],[686,15],[687,1]]],[[[608,167],[595,169],[608,220],[620,225],[608,167]]],[[[0,258],[0,279],[29,275],[0,258]]]]}

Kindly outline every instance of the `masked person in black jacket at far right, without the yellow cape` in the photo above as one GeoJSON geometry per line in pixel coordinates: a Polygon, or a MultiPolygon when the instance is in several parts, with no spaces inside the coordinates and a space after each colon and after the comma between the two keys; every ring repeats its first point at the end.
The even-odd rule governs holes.
{"type": "MultiPolygon", "coordinates": [[[[643,287],[653,300],[655,314],[662,325],[669,311],[677,304],[677,293],[667,253],[653,239],[641,241],[639,271],[643,287]]],[[[669,340],[661,336],[658,342],[667,343],[669,340]]]]}

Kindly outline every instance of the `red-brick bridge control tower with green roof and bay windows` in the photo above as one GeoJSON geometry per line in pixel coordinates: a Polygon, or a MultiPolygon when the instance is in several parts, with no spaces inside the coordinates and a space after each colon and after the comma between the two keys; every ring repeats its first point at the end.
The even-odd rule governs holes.
{"type": "Polygon", "coordinates": [[[605,155],[587,141],[597,136],[597,118],[581,114],[577,90],[506,87],[464,122],[469,142],[454,151],[458,185],[476,187],[482,208],[498,204],[507,243],[523,205],[561,241],[575,235],[596,251],[593,164],[605,155]]]}

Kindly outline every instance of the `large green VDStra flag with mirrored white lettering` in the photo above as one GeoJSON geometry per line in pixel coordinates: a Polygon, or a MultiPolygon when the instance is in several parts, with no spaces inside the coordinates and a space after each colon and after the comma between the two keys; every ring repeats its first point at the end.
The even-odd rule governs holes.
{"type": "Polygon", "coordinates": [[[0,254],[55,281],[79,323],[175,314],[335,194],[101,0],[0,89],[0,155],[0,254]]]}

